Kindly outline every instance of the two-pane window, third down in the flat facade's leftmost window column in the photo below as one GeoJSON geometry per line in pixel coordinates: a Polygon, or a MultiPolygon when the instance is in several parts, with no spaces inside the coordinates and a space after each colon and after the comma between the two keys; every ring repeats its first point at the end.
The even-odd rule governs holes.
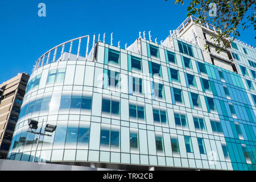
{"type": "Polygon", "coordinates": [[[119,101],[102,99],[102,113],[119,115],[119,101]]]}

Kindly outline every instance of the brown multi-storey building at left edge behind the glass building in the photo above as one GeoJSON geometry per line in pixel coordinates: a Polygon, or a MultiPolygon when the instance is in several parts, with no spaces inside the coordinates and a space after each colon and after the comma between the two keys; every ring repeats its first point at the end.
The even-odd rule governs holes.
{"type": "Polygon", "coordinates": [[[0,159],[9,151],[29,77],[19,73],[0,85],[0,159]]]}

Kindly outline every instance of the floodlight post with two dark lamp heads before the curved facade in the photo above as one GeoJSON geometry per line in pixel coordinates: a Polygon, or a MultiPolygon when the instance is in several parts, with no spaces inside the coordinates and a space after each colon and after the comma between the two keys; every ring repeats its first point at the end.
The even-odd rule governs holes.
{"type": "Polygon", "coordinates": [[[30,130],[28,130],[27,132],[34,133],[34,134],[39,134],[38,141],[36,142],[36,150],[35,150],[35,155],[34,155],[34,158],[33,158],[33,163],[35,162],[35,156],[36,156],[36,151],[38,150],[38,144],[39,144],[40,136],[44,135],[44,136],[52,137],[52,135],[46,134],[46,132],[53,133],[53,131],[55,131],[56,127],[57,127],[56,125],[47,124],[45,129],[44,129],[44,133],[41,133],[43,123],[44,123],[44,119],[43,119],[43,122],[42,122],[42,125],[41,125],[41,128],[40,128],[40,131],[35,132],[35,131],[32,131],[32,129],[35,129],[35,130],[38,129],[38,121],[36,121],[34,119],[28,119],[28,126],[30,126],[30,130]]]}

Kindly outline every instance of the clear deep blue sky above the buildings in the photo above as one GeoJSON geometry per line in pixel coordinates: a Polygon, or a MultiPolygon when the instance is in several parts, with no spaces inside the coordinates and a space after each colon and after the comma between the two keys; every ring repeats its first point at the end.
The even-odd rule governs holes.
{"type": "MultiPolygon", "coordinates": [[[[31,74],[32,65],[48,49],[83,35],[101,36],[106,43],[129,46],[139,31],[151,30],[152,40],[164,40],[187,18],[187,4],[175,0],[33,0],[0,1],[0,84],[19,72],[31,74]],[[38,4],[46,4],[46,17],[38,4]]],[[[243,42],[255,46],[252,28],[241,32],[243,42]]],[[[91,39],[92,40],[92,39],[91,39]]],[[[91,44],[90,44],[91,46],[91,44]]]]}

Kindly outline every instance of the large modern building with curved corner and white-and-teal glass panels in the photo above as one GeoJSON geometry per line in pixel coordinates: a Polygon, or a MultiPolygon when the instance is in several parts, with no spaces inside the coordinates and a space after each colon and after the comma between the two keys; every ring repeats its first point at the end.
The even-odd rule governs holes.
{"type": "MultiPolygon", "coordinates": [[[[192,19],[183,28],[189,24],[192,19]]],[[[218,65],[210,63],[200,44],[176,34],[162,44],[139,37],[126,49],[93,41],[89,55],[81,53],[84,39],[89,42],[84,36],[60,44],[36,62],[9,159],[119,169],[256,169],[255,48],[230,42],[226,69],[221,54],[218,65]],[[28,118],[39,122],[38,131],[57,125],[52,137],[39,138],[37,150],[28,118]]]]}

